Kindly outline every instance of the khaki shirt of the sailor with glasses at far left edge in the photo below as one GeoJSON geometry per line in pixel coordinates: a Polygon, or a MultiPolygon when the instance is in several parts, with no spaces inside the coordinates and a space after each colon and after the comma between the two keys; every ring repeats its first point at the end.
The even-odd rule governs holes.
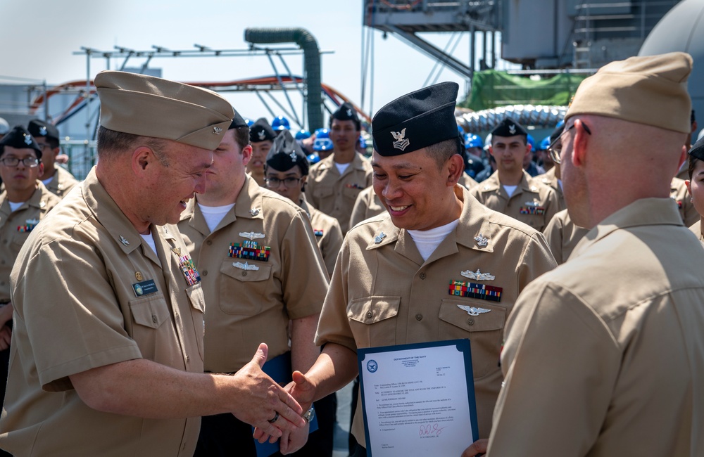
{"type": "Polygon", "coordinates": [[[10,301],[10,271],[20,248],[39,221],[61,199],[37,181],[37,190],[17,210],[10,209],[7,192],[0,194],[0,302],[10,301]]]}

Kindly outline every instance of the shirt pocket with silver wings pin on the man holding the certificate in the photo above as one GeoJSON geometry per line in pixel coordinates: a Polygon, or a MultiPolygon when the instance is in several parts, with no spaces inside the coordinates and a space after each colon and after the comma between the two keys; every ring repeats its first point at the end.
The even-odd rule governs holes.
{"type": "Polygon", "coordinates": [[[482,300],[446,299],[441,302],[438,318],[439,340],[470,339],[474,378],[498,370],[506,321],[504,307],[482,300]],[[475,309],[465,311],[458,305],[475,309]]]}

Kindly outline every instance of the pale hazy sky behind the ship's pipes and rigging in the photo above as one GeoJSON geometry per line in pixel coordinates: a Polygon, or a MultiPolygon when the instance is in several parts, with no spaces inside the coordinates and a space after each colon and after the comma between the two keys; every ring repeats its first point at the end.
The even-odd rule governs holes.
{"type": "MultiPolygon", "coordinates": [[[[362,0],[3,0],[0,1],[0,82],[3,77],[23,77],[58,84],[85,79],[86,58],[74,56],[82,46],[110,51],[113,46],[149,50],[152,45],[168,49],[194,49],[194,44],[211,49],[246,49],[244,30],[248,27],[303,27],[318,40],[322,51],[322,81],[341,91],[355,103],[361,96],[362,0]]],[[[426,36],[427,37],[427,36],[426,36]]],[[[450,34],[431,38],[444,48],[450,34]]],[[[463,39],[455,55],[467,61],[468,39],[463,39]]],[[[393,35],[375,37],[374,110],[394,98],[420,89],[429,76],[434,60],[393,35]]],[[[294,46],[294,45],[291,45],[294,46]]],[[[291,71],[302,75],[302,56],[288,56],[291,71]]],[[[144,59],[133,58],[128,66],[141,66],[144,59]]],[[[113,60],[113,69],[122,60],[113,60]]],[[[271,75],[265,57],[155,58],[150,67],[161,67],[163,77],[183,82],[225,81],[271,75]]],[[[279,66],[280,67],[280,66],[279,66]]],[[[104,59],[92,59],[91,76],[106,68],[104,59]]],[[[438,81],[460,84],[464,98],[465,81],[444,70],[438,81]]],[[[434,79],[431,81],[431,83],[434,79]]],[[[367,84],[370,84],[367,82],[367,84]]],[[[368,88],[368,85],[367,85],[368,88]]],[[[266,116],[255,96],[227,95],[246,117],[266,116]]],[[[285,98],[277,96],[285,103],[285,98]]],[[[294,103],[300,110],[301,103],[294,103]]],[[[370,95],[365,96],[370,109],[370,95]]]]}

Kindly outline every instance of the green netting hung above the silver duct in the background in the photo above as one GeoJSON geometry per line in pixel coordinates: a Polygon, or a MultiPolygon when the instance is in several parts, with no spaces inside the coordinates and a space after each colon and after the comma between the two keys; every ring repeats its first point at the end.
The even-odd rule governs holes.
{"type": "Polygon", "coordinates": [[[472,92],[460,106],[479,111],[506,105],[568,105],[587,76],[561,73],[534,81],[496,70],[475,72],[472,92]]]}

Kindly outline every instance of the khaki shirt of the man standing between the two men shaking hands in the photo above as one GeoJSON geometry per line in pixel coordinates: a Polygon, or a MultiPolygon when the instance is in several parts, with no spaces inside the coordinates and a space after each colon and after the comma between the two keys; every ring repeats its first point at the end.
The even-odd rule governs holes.
{"type": "Polygon", "coordinates": [[[328,285],[306,212],[247,176],[213,233],[195,199],[179,229],[208,304],[206,371],[239,370],[260,342],[269,359],[289,351],[289,319],[318,314],[328,285]]]}

